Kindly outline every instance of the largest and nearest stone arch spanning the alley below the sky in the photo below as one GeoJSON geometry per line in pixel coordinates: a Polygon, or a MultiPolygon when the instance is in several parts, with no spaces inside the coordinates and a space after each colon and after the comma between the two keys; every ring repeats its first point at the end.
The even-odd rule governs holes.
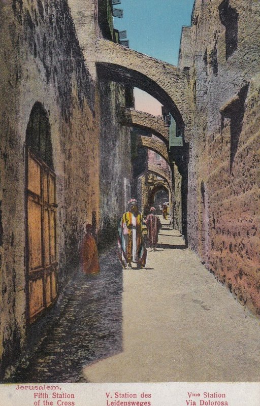
{"type": "Polygon", "coordinates": [[[191,136],[191,88],[189,77],[177,66],[100,39],[96,42],[96,66],[100,78],[139,87],[166,106],[191,136]]]}

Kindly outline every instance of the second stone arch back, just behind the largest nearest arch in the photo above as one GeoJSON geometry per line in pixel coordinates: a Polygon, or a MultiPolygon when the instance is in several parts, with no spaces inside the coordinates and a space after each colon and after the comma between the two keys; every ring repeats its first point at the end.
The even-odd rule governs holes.
{"type": "Polygon", "coordinates": [[[123,125],[138,126],[151,131],[169,146],[169,127],[161,117],[135,109],[124,109],[121,113],[121,120],[123,125]]]}

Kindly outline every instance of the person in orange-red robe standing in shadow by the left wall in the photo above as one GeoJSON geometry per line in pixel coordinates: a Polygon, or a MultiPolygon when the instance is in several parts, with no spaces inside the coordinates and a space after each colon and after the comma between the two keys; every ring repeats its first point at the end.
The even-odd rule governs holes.
{"type": "Polygon", "coordinates": [[[92,235],[93,227],[86,225],[86,235],[81,244],[80,265],[86,275],[96,275],[100,272],[98,248],[92,235]]]}

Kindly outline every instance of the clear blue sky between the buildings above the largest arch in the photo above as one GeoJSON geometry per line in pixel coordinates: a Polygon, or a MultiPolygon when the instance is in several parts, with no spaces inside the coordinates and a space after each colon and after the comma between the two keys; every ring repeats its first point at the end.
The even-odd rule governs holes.
{"type": "Polygon", "coordinates": [[[129,47],[178,64],[181,27],[190,25],[194,0],[121,0],[123,19],[114,17],[114,27],[127,30],[129,47]]]}

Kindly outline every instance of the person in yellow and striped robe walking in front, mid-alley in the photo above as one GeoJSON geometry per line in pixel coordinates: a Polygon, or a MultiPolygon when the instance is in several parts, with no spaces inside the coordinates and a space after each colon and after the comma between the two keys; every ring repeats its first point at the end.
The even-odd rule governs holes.
{"type": "Polygon", "coordinates": [[[128,201],[128,211],[123,214],[118,227],[119,259],[123,268],[131,269],[132,262],[140,269],[146,263],[146,248],[143,244],[143,218],[137,200],[128,201]]]}

